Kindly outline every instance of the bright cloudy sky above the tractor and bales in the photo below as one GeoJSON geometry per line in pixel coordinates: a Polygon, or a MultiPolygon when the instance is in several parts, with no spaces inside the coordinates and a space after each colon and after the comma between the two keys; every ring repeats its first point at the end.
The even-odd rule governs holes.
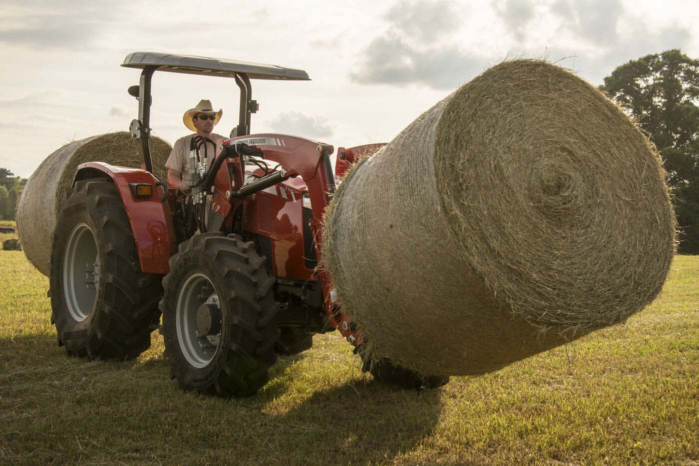
{"type": "MultiPolygon", "coordinates": [[[[699,3],[646,0],[156,1],[0,3],[0,167],[29,177],[65,143],[127,131],[140,70],[130,52],[261,62],[310,81],[252,81],[251,131],[336,148],[389,142],[437,101],[505,59],[544,58],[594,85],[680,48],[699,57],[699,3]]],[[[210,99],[238,121],[233,79],[156,73],[152,134],[173,143],[210,99]]]]}

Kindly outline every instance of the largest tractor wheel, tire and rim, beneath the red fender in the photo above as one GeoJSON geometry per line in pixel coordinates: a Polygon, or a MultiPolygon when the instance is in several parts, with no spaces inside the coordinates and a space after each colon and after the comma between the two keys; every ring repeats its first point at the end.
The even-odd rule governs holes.
{"type": "Polygon", "coordinates": [[[111,180],[75,183],[51,248],[51,323],[69,356],[130,360],[150,348],[161,276],[140,269],[122,198],[111,180]]]}

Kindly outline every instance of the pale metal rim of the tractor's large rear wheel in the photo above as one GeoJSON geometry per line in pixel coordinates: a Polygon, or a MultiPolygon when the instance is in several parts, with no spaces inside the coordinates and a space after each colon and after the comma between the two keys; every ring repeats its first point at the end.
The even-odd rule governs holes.
{"type": "Polygon", "coordinates": [[[80,223],[71,232],[63,261],[63,290],[71,317],[85,320],[99,289],[99,257],[92,230],[80,223]]]}

